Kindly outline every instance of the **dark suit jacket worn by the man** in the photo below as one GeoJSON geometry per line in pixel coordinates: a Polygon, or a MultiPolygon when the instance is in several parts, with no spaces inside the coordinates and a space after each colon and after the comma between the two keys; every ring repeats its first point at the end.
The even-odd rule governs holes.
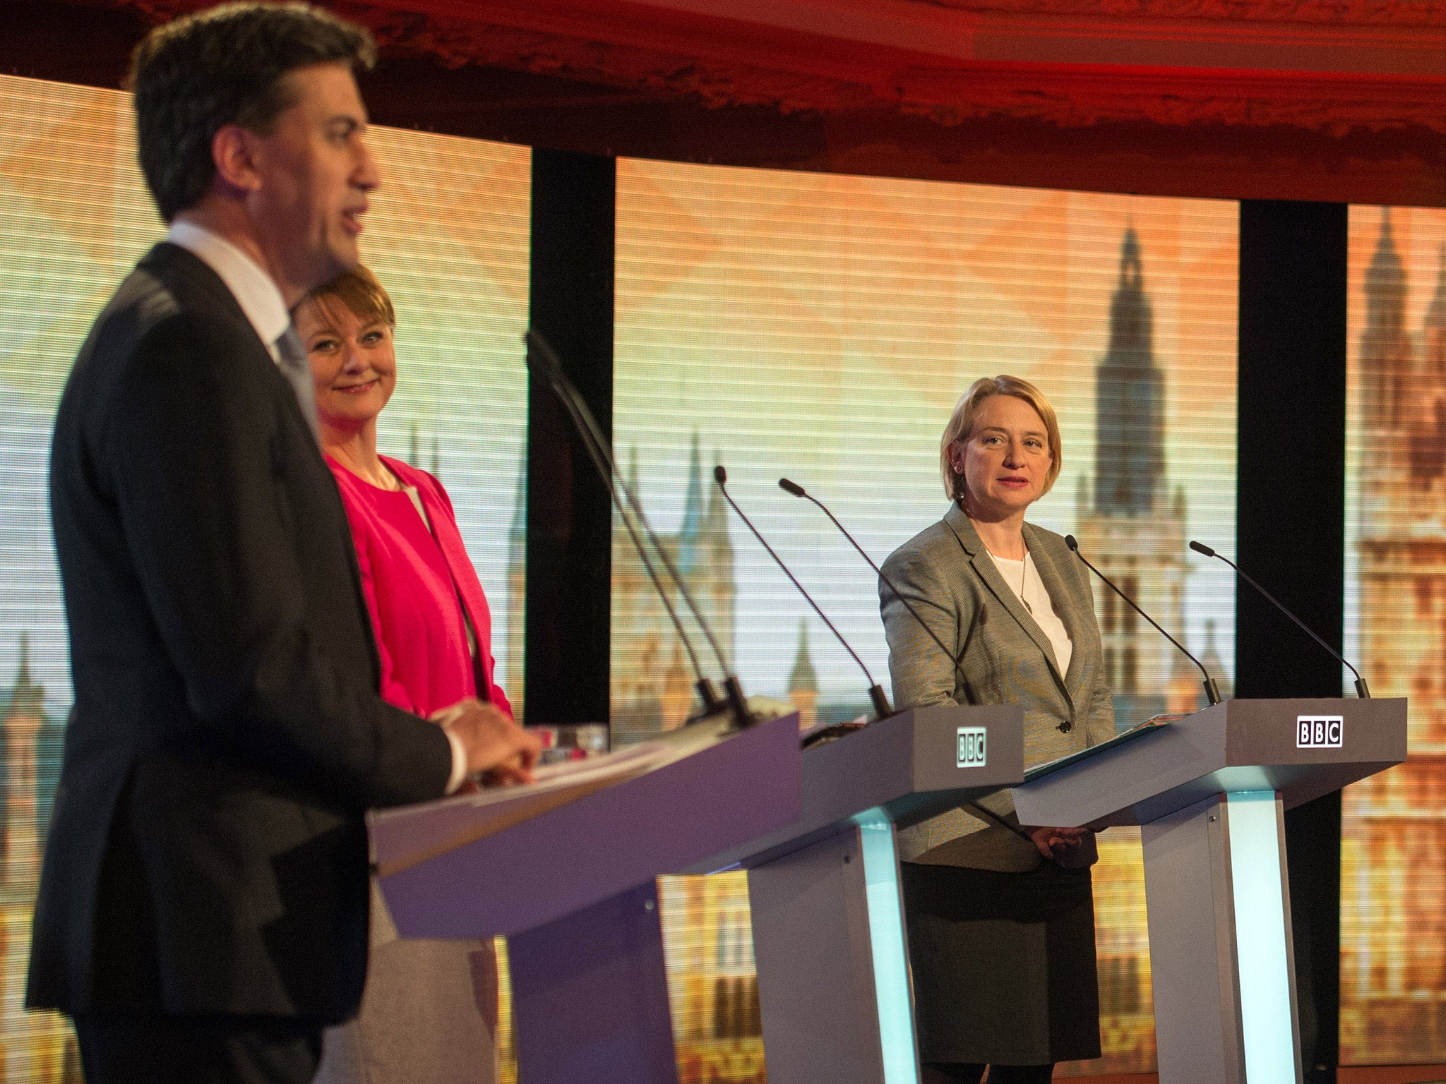
{"type": "Polygon", "coordinates": [[[152,249],[95,321],[51,507],[75,708],[27,1003],[347,1018],[363,812],[438,798],[451,752],[377,697],[331,471],[191,253],[152,249]]]}

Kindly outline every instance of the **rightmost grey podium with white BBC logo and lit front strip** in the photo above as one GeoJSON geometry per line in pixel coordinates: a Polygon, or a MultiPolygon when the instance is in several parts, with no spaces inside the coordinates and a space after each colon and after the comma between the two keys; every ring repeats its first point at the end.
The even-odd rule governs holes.
{"type": "Polygon", "coordinates": [[[1406,760],[1404,700],[1232,700],[1014,788],[1139,825],[1161,1084],[1301,1080],[1283,812],[1406,760]]]}

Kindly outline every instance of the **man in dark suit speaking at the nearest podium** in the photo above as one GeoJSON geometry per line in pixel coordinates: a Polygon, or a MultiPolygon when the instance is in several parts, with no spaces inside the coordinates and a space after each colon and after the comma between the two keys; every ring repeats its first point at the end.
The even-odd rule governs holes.
{"type": "Polygon", "coordinates": [[[535,739],[377,697],[356,555],[289,306],[357,262],[364,30],[230,4],[136,51],[168,241],[97,318],[51,496],[75,708],[27,1003],[91,1084],[307,1081],[366,973],[370,806],[526,778],[535,739]]]}

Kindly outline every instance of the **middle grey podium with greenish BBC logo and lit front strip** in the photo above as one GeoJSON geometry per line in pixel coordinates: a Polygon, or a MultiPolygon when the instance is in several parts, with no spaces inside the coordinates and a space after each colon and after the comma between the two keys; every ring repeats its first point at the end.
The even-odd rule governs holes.
{"type": "Polygon", "coordinates": [[[804,753],[797,818],[681,870],[748,870],[769,1084],[917,1084],[894,833],[1022,778],[1017,705],[901,711],[804,753]]]}

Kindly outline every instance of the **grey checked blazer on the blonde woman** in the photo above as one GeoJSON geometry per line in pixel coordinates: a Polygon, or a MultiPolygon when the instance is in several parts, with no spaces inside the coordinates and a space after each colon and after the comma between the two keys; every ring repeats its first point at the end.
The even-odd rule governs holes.
{"type": "MultiPolygon", "coordinates": [[[[1066,674],[1056,665],[1048,636],[1005,584],[959,504],[895,549],[884,562],[884,574],[956,658],[963,652],[967,682],[882,580],[879,610],[889,642],[894,702],[901,708],[1018,704],[1024,708],[1024,763],[1031,767],[1113,737],[1115,708],[1089,571],[1051,530],[1025,523],[1024,541],[1074,643],[1066,674]],[[980,607],[985,613],[966,645],[980,607]]],[[[991,795],[982,805],[1017,822],[1008,791],[991,795]]],[[[1043,861],[1025,840],[963,809],[902,830],[898,846],[905,861],[941,866],[1024,872],[1043,861]]],[[[1077,857],[1093,861],[1092,837],[1077,857]]]]}

